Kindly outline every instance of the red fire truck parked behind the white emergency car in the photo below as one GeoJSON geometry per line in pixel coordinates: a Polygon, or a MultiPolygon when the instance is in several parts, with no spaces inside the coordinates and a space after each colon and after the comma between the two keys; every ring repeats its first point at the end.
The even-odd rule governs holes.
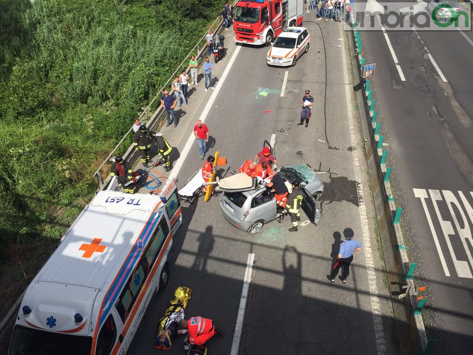
{"type": "Polygon", "coordinates": [[[243,0],[235,7],[233,29],[239,43],[269,45],[283,28],[302,25],[304,0],[243,0]]]}

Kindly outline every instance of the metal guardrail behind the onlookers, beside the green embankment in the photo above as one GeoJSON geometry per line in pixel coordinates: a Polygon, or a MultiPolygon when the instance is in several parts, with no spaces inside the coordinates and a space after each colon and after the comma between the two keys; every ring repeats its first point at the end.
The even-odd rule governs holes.
{"type": "MultiPolygon", "coordinates": [[[[233,11],[233,10],[232,10],[233,11]]],[[[214,36],[218,35],[219,33],[221,33],[221,30],[223,29],[223,24],[224,24],[224,21],[219,21],[219,18],[217,18],[209,27],[209,29],[212,29],[212,27],[215,27],[215,30],[213,31],[214,32],[214,36]]],[[[205,40],[205,35],[203,35],[201,37],[201,39],[197,42],[197,44],[193,47],[193,49],[187,54],[187,56],[184,58],[184,60],[181,62],[181,64],[177,67],[177,69],[175,70],[175,72],[169,77],[169,80],[166,81],[166,84],[163,85],[163,87],[161,89],[158,90],[158,93],[156,94],[156,96],[151,100],[151,102],[149,103],[149,105],[144,109],[144,111],[141,113],[141,115],[138,117],[139,120],[141,120],[141,118],[148,112],[149,110],[149,107],[151,107],[151,105],[156,101],[156,99],[159,97],[161,97],[163,95],[163,91],[169,86],[170,82],[172,82],[172,80],[174,80],[175,78],[175,75],[177,72],[181,72],[184,70],[184,63],[185,62],[189,62],[191,56],[193,55],[193,53],[196,53],[197,52],[197,55],[195,55],[195,59],[197,61],[200,61],[203,56],[205,55],[205,53],[207,52],[207,45],[206,44],[203,44],[202,45],[202,41],[205,40]]],[[[190,72],[190,67],[187,65],[185,67],[185,71],[186,72],[190,72]]],[[[149,121],[147,122],[147,127],[149,130],[155,130],[158,126],[159,126],[159,123],[161,121],[161,119],[164,117],[165,115],[165,111],[163,109],[163,107],[161,105],[159,105],[159,107],[156,109],[155,113],[151,116],[151,118],[149,119],[149,121]]],[[[102,178],[102,174],[100,173],[100,170],[104,167],[105,163],[107,161],[109,161],[109,159],[115,155],[115,152],[120,148],[120,146],[122,145],[122,143],[125,141],[125,139],[129,136],[129,134],[132,132],[133,130],[133,126],[131,125],[130,129],[128,130],[127,133],[125,133],[125,135],[123,136],[123,138],[120,140],[120,142],[118,142],[118,144],[115,146],[114,150],[108,155],[108,157],[102,162],[102,164],[97,168],[97,170],[94,172],[94,174],[92,174],[92,177],[96,177],[97,178],[97,181],[98,181],[98,186],[99,186],[99,191],[100,190],[103,190],[108,182],[110,181],[111,177],[110,177],[110,174],[107,174],[107,178],[105,179],[105,181],[103,180],[102,178]]],[[[125,160],[127,160],[128,162],[130,163],[134,163],[135,160],[138,158],[138,152],[135,151],[134,149],[134,145],[131,144],[131,146],[128,148],[128,150],[122,155],[123,158],[125,160]]]]}

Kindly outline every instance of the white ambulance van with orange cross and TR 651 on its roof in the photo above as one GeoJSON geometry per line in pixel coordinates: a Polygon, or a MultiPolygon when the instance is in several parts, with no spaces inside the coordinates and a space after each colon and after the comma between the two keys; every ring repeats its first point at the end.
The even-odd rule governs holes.
{"type": "Polygon", "coordinates": [[[159,195],[99,191],[27,287],[9,354],[126,354],[182,221],[174,179],[159,195]]]}

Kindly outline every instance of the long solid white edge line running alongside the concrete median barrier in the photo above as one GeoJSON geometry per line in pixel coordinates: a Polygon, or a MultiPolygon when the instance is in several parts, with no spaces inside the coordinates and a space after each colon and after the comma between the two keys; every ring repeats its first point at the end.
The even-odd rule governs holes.
{"type": "MultiPolygon", "coordinates": [[[[341,37],[344,34],[344,31],[340,30],[341,37]]],[[[342,45],[342,61],[343,61],[343,71],[344,80],[347,85],[345,85],[345,97],[347,100],[347,111],[348,111],[348,122],[350,124],[350,139],[351,139],[351,146],[357,146],[357,139],[356,134],[359,132],[358,127],[355,126],[354,120],[354,113],[353,108],[354,104],[352,103],[351,99],[351,86],[348,85],[350,83],[350,79],[348,77],[348,73],[350,69],[347,65],[346,60],[346,53],[345,53],[345,46],[342,45]]],[[[402,73],[402,71],[401,71],[402,73]]],[[[363,181],[361,175],[361,167],[360,167],[360,160],[363,159],[361,155],[361,149],[355,149],[352,152],[353,154],[353,167],[355,169],[355,180],[357,182],[357,195],[358,195],[358,204],[359,204],[359,219],[361,222],[361,230],[363,233],[363,244],[365,251],[365,259],[366,259],[366,270],[368,273],[368,286],[369,286],[369,296],[371,301],[371,309],[373,310],[373,323],[375,329],[375,338],[376,338],[376,347],[378,354],[387,354],[386,349],[386,338],[385,332],[383,327],[383,315],[381,311],[381,302],[378,297],[379,291],[377,287],[377,275],[376,275],[376,266],[374,263],[375,254],[371,247],[371,235],[369,231],[369,224],[368,224],[368,213],[366,212],[366,204],[365,204],[365,196],[363,193],[363,181]]]]}

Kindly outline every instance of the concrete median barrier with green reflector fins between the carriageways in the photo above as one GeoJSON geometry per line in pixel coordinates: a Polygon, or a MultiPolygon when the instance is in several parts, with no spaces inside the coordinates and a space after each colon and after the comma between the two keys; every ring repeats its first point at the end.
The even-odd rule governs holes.
{"type": "Polygon", "coordinates": [[[400,226],[403,209],[396,206],[389,182],[392,168],[386,167],[388,151],[383,150],[383,127],[377,121],[377,103],[372,98],[373,83],[362,78],[366,49],[361,44],[354,12],[355,9],[351,13],[351,23],[354,25],[348,31],[351,63],[355,89],[359,88],[357,90],[359,114],[363,135],[367,140],[365,153],[396,329],[404,355],[429,355],[432,354],[435,339],[427,339],[421,314],[421,309],[428,300],[420,297],[419,290],[414,286],[414,270],[417,264],[411,264],[407,248],[404,246],[400,226]]]}

